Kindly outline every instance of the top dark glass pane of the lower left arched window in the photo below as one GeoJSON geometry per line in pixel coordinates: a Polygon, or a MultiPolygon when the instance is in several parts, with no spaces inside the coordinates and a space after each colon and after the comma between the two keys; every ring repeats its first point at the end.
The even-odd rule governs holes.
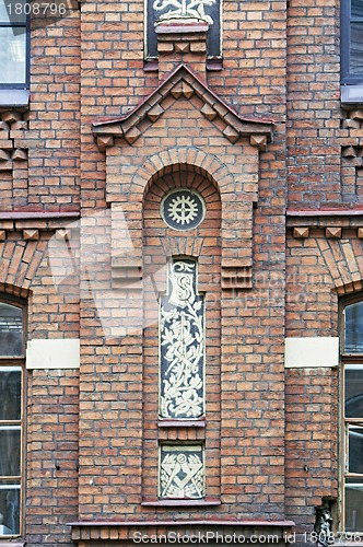
{"type": "Polygon", "coordinates": [[[23,312],[0,302],[0,357],[23,354],[23,312]]]}

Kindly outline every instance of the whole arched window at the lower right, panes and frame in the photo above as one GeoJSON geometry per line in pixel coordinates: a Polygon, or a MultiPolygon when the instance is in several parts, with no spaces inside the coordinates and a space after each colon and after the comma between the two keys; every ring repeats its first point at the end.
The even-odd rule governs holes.
{"type": "Polygon", "coordinates": [[[343,514],[346,532],[363,532],[363,296],[344,301],[343,514]]]}

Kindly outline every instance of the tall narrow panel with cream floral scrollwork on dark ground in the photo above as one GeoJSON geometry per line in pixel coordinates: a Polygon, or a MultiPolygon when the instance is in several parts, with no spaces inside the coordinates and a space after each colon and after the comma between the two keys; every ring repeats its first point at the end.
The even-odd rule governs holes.
{"type": "Polygon", "coordinates": [[[160,301],[160,418],[204,415],[204,296],[197,293],[197,263],[168,265],[160,301]]]}

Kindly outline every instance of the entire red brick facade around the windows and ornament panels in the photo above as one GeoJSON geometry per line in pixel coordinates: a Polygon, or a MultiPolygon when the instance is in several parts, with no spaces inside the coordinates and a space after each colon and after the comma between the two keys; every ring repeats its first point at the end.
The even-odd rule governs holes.
{"type": "Polygon", "coordinates": [[[26,304],[28,342],[80,339],[80,365],[26,373],[24,525],[0,546],[305,544],[324,503],[341,529],[339,366],[285,366],[286,338],[339,337],[362,291],[363,110],[340,104],[339,13],[225,0],[213,70],[200,22],[163,23],[144,62],[143,0],[33,18],[30,106],[0,110],[0,290],[26,304]],[[195,230],[165,224],[174,188],[203,198],[195,230]],[[165,424],[175,257],[206,295],[206,416],[165,424]],[[204,447],[202,499],[159,496],[165,441],[204,447]]]}

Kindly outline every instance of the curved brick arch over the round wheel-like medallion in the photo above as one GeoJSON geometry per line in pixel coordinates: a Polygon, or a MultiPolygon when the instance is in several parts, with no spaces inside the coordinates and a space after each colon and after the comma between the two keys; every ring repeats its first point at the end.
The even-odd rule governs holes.
{"type": "Polygon", "coordinates": [[[143,188],[143,196],[160,176],[180,170],[201,173],[210,181],[221,195],[234,182],[229,167],[219,158],[195,147],[171,148],[148,156],[144,164],[134,173],[131,185],[143,188]]]}

